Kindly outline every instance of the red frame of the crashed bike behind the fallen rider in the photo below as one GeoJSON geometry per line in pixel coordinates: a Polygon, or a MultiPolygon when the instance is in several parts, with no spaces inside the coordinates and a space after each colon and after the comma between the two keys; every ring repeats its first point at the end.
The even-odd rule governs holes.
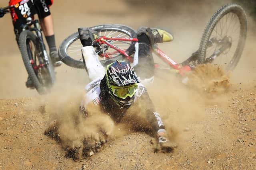
{"type": "MultiPolygon", "coordinates": [[[[100,57],[104,57],[104,58],[109,58],[110,59],[110,58],[112,58],[111,54],[118,52],[118,53],[122,54],[124,57],[126,57],[126,59],[128,59],[128,61],[130,61],[130,63],[133,63],[133,57],[128,55],[125,52],[125,50],[120,49],[120,48],[116,47],[115,45],[112,45],[111,43],[108,43],[106,40],[138,41],[137,38],[118,38],[118,37],[100,36],[98,39],[95,40],[100,45],[101,44],[106,44],[109,47],[111,47],[112,49],[116,50],[114,52],[103,53],[102,55],[100,55],[100,57]]],[[[184,71],[190,71],[191,70],[190,66],[188,66],[188,65],[182,66],[181,64],[178,64],[176,61],[174,61],[170,57],[168,57],[168,55],[166,55],[166,53],[164,53],[158,47],[154,47],[153,49],[154,49],[154,51],[153,51],[154,54],[156,54],[158,57],[160,57],[163,61],[167,62],[173,69],[177,70],[182,76],[184,76],[184,71]]]]}

